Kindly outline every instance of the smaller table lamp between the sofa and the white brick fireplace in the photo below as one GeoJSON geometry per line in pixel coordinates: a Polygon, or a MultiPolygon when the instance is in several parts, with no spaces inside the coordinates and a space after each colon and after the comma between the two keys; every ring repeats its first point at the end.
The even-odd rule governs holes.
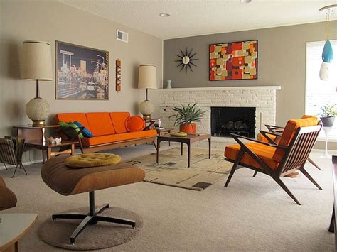
{"type": "Polygon", "coordinates": [[[149,120],[154,112],[154,104],[148,99],[148,90],[157,89],[156,65],[139,65],[138,88],[146,89],[146,98],[139,104],[139,111],[145,120],[149,120]]]}

